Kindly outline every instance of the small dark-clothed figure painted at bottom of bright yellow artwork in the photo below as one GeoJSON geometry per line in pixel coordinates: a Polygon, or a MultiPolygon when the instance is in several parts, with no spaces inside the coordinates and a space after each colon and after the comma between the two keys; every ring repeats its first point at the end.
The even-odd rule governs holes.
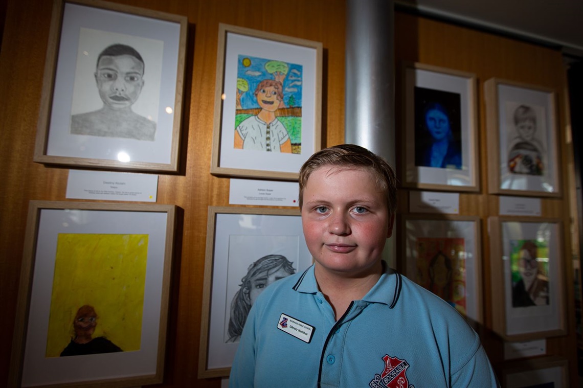
{"type": "Polygon", "coordinates": [[[93,306],[81,306],[75,315],[75,320],[73,320],[75,337],[61,352],[61,357],[121,352],[121,348],[106,337],[92,338],[96,326],[97,313],[93,306]]]}

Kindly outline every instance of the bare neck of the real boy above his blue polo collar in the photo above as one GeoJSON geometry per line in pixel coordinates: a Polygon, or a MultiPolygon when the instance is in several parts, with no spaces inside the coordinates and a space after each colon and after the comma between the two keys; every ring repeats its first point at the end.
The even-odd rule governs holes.
{"type": "Polygon", "coordinates": [[[382,263],[378,262],[368,273],[360,276],[346,276],[324,269],[318,263],[314,275],[318,288],[332,306],[336,320],[340,319],[352,301],[358,301],[377,284],[382,274],[382,263]]]}

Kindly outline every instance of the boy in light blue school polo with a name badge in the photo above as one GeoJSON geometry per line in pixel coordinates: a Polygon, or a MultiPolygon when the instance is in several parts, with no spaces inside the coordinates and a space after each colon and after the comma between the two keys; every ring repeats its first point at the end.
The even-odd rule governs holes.
{"type": "Polygon", "coordinates": [[[312,155],[299,182],[315,263],[259,295],[230,386],[497,386],[462,316],[381,261],[396,210],[387,162],[343,144],[312,155]]]}

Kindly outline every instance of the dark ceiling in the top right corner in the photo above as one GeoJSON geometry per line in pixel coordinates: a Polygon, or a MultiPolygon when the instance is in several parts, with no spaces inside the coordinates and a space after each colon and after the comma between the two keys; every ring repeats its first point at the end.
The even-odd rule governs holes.
{"type": "Polygon", "coordinates": [[[583,57],[583,0],[395,0],[395,4],[583,57]]]}

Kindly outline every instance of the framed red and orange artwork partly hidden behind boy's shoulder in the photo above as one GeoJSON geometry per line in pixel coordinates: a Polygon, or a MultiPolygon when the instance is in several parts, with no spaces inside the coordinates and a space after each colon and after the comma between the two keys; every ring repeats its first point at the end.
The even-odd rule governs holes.
{"type": "Polygon", "coordinates": [[[480,218],[401,216],[402,271],[475,322],[482,322],[480,218]]]}

